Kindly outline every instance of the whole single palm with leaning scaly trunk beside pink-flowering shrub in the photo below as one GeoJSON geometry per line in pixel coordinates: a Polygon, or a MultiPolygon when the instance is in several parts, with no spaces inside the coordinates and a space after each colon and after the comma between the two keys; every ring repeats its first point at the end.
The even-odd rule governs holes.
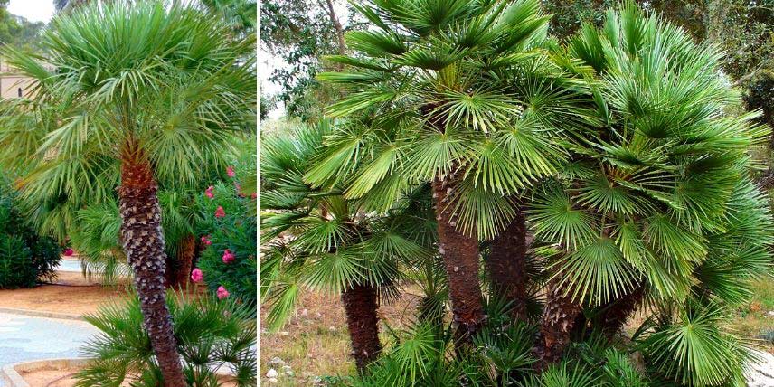
{"type": "Polygon", "coordinates": [[[196,180],[233,133],[252,127],[255,75],[244,58],[253,41],[230,36],[191,6],[114,2],[54,19],[42,35],[46,58],[5,51],[35,87],[20,107],[33,126],[0,130],[4,158],[33,160],[24,181],[60,195],[95,191],[100,175],[120,176],[120,239],[170,386],[185,382],[165,307],[156,182],[196,180]]]}

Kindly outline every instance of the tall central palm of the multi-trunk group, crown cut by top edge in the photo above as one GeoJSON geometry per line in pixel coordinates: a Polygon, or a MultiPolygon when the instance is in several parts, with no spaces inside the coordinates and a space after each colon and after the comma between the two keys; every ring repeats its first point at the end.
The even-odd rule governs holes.
{"type": "MultiPolygon", "coordinates": [[[[566,104],[577,91],[541,50],[548,16],[537,1],[373,1],[355,8],[375,28],[347,33],[355,53],[328,59],[350,68],[318,78],[351,91],[329,115],[370,119],[328,140],[325,162],[305,179],[343,184],[346,199],[381,192],[377,208],[432,185],[453,325],[458,341],[469,344],[486,318],[479,241],[514,220],[510,230],[523,229],[519,195],[557,171],[564,152],[552,138],[582,115],[566,104]]],[[[524,244],[524,235],[516,239],[524,244]]],[[[495,274],[508,266],[502,260],[523,259],[512,254],[524,249],[502,245],[495,242],[488,257],[495,274]]],[[[509,279],[490,277],[511,292],[503,283],[509,279]]]]}

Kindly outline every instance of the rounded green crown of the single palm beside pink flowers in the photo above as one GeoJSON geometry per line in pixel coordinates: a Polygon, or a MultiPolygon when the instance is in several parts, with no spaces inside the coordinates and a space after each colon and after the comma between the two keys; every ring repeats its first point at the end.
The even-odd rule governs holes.
{"type": "Polygon", "coordinates": [[[61,192],[88,196],[105,179],[84,175],[105,173],[109,159],[141,152],[162,180],[190,182],[207,156],[224,153],[251,119],[251,60],[235,66],[253,52],[250,39],[213,39],[228,27],[191,8],[141,5],[55,19],[42,36],[45,58],[6,50],[35,80],[31,108],[47,124],[4,131],[6,159],[48,156],[33,175],[67,176],[57,179],[61,192]]]}

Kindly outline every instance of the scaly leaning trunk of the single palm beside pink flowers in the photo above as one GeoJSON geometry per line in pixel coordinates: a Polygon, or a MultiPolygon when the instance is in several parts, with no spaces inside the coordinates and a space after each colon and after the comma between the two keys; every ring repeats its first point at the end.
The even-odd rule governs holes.
{"type": "Polygon", "coordinates": [[[172,317],[165,303],[166,253],[156,190],[150,165],[130,161],[121,165],[121,186],[118,187],[121,241],[135,273],[145,328],[164,375],[165,387],[185,387],[172,317]]]}

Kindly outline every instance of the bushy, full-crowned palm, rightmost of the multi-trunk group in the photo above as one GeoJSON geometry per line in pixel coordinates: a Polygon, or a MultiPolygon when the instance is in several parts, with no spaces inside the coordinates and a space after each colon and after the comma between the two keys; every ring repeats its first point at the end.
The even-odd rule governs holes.
{"type": "MultiPolygon", "coordinates": [[[[594,82],[603,125],[579,127],[570,163],[537,190],[530,213],[536,236],[560,250],[538,345],[543,365],[559,360],[576,321],[585,325],[584,308],[608,333],[648,299],[664,323],[656,332],[706,324],[722,315],[718,304],[745,299],[750,278],[770,264],[769,211],[750,180],[750,150],[765,145],[768,129],[753,123],[756,114],[725,112],[739,96],[718,76],[721,54],[632,3],[610,12],[603,29],[581,28],[569,52],[594,82]]],[[[659,372],[694,373],[680,377],[702,384],[732,373],[706,359],[743,363],[739,345],[720,334],[714,343],[733,354],[684,338],[686,353],[648,351],[670,363],[659,372]],[[702,350],[703,358],[688,354],[702,350]]]]}

